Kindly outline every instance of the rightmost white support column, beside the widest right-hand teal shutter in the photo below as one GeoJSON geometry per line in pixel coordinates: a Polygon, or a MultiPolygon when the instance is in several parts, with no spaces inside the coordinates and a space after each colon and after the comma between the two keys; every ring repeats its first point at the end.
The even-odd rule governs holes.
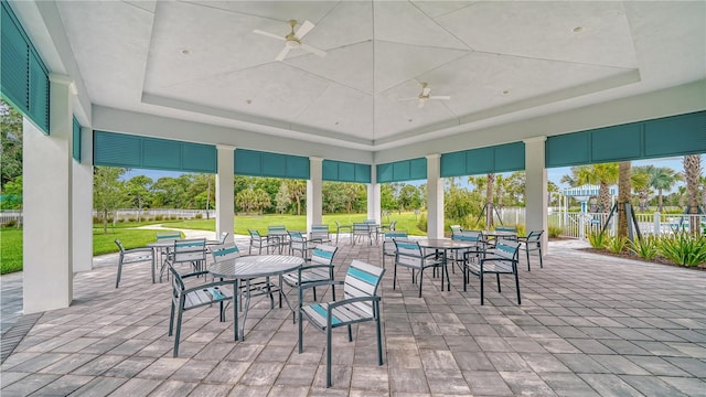
{"type": "Polygon", "coordinates": [[[527,233],[544,230],[542,254],[548,251],[547,230],[547,170],[544,164],[546,137],[526,139],[525,142],[525,212],[527,233]]]}

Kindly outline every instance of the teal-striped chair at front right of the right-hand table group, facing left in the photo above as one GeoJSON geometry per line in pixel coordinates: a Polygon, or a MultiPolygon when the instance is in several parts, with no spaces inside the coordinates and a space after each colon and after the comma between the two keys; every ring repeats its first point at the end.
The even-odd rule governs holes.
{"type": "Polygon", "coordinates": [[[500,290],[500,275],[513,275],[515,277],[515,289],[517,290],[517,304],[522,304],[520,298],[520,278],[517,277],[517,258],[520,256],[520,243],[499,239],[495,248],[485,251],[485,256],[478,262],[467,260],[463,262],[463,291],[469,281],[470,275],[478,276],[481,283],[481,305],[483,304],[483,276],[494,273],[498,279],[498,292],[500,290]]]}

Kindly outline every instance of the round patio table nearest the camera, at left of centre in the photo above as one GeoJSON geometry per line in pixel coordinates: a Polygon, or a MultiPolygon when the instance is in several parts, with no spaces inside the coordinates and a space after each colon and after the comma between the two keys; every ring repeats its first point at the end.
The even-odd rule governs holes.
{"type": "Polygon", "coordinates": [[[245,321],[247,320],[247,311],[250,307],[250,297],[253,296],[252,281],[256,278],[267,278],[268,280],[265,285],[259,287],[258,294],[269,294],[270,309],[274,309],[275,302],[271,293],[279,293],[280,308],[284,298],[287,307],[293,314],[295,310],[289,303],[289,299],[282,293],[282,275],[299,269],[303,262],[303,258],[289,255],[253,255],[226,259],[211,265],[208,272],[211,272],[213,277],[233,279],[233,329],[235,341],[245,340],[245,321]],[[279,285],[276,286],[269,282],[269,277],[278,277],[279,285]],[[245,308],[243,309],[243,320],[240,321],[238,313],[238,288],[243,281],[245,281],[245,308]]]}

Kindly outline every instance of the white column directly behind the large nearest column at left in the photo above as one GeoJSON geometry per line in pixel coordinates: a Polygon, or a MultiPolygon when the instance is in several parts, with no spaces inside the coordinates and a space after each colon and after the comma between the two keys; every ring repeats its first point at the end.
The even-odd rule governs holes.
{"type": "MultiPolygon", "coordinates": [[[[73,135],[69,135],[73,146],[73,135]]],[[[71,162],[74,272],[93,269],[93,130],[81,130],[81,162],[71,162]]]]}

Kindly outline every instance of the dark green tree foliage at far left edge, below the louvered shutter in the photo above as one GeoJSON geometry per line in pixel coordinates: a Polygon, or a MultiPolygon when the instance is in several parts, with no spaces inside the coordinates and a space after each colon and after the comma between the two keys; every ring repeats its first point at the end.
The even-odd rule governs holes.
{"type": "Polygon", "coordinates": [[[0,186],[22,175],[22,114],[0,99],[0,186]]]}

